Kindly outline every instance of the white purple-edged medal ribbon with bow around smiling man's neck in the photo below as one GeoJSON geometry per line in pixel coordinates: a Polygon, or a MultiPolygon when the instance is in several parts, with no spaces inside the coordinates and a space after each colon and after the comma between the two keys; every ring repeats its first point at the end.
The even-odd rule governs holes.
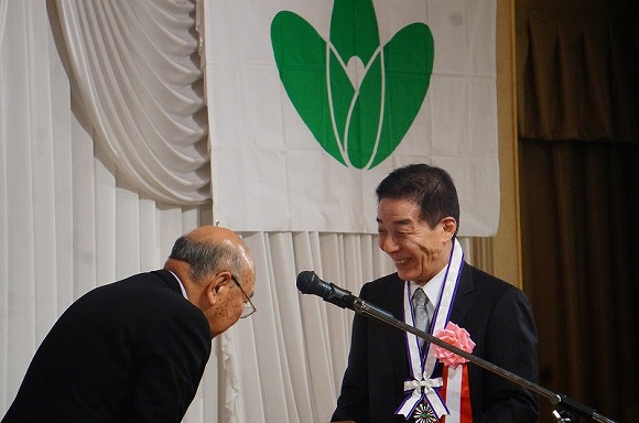
{"type": "MultiPolygon", "coordinates": [[[[451,307],[455,300],[455,293],[457,291],[457,283],[459,281],[459,274],[462,273],[463,264],[464,251],[462,250],[462,246],[457,239],[455,239],[453,243],[453,250],[451,251],[451,258],[448,260],[448,265],[446,268],[446,273],[444,275],[444,283],[442,284],[442,289],[440,291],[440,300],[435,306],[435,314],[430,329],[431,334],[437,332],[438,329],[443,329],[450,319],[451,307]]],[[[410,283],[407,281],[404,295],[404,322],[414,326],[410,296],[410,283]]],[[[396,411],[396,414],[401,414],[404,417],[409,417],[415,410],[415,406],[418,406],[422,400],[425,400],[425,402],[427,402],[427,404],[434,411],[437,419],[441,419],[444,415],[451,415],[452,411],[447,406],[447,403],[450,402],[457,404],[462,402],[462,389],[454,388],[457,386],[457,372],[454,371],[444,373],[445,376],[443,377],[446,377],[445,384],[443,377],[432,378],[433,371],[435,370],[435,364],[437,361],[434,356],[434,348],[431,348],[431,344],[426,343],[424,352],[422,354],[419,347],[419,339],[416,335],[407,333],[405,339],[408,345],[411,379],[404,381],[403,390],[407,393],[407,398],[396,411]],[[444,386],[451,387],[445,393],[445,398],[447,399],[446,402],[444,402],[444,399],[440,395],[440,391],[444,386]]],[[[466,368],[466,365],[463,367],[466,368]]],[[[462,370],[462,367],[457,368],[457,370],[462,370]]],[[[459,380],[462,380],[462,378],[459,378],[459,380]]],[[[459,387],[463,383],[459,382],[459,387]]],[[[467,386],[466,378],[466,387],[467,386]]],[[[455,411],[455,414],[458,415],[458,411],[455,411]]],[[[448,423],[452,422],[461,421],[448,420],[448,423]]]]}

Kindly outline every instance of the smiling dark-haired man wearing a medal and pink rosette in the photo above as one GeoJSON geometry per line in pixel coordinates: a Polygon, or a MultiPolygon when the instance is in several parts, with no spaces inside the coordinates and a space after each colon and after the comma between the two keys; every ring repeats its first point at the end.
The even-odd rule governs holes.
{"type": "MultiPolygon", "coordinates": [[[[464,261],[455,239],[459,205],[451,176],[425,164],[400,167],[380,183],[377,197],[379,247],[392,258],[398,272],[365,284],[360,297],[418,326],[412,296],[421,289],[429,300],[430,323],[420,329],[433,334],[455,323],[476,343],[475,356],[535,382],[537,333],[528,300],[517,288],[464,261]]],[[[447,392],[437,409],[437,393],[443,392],[442,384],[452,383],[452,370],[443,375],[434,347],[427,343],[421,347],[419,341],[356,315],[332,421],[433,422],[445,415],[437,410],[446,406],[456,413],[454,421],[461,422],[537,420],[537,395],[473,364],[465,365],[469,398],[447,392]],[[453,399],[465,405],[455,405],[453,399]]]]}

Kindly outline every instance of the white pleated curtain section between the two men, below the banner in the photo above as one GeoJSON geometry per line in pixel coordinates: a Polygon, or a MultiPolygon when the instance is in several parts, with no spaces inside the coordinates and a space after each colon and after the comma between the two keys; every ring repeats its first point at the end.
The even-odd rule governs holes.
{"type": "Polygon", "coordinates": [[[258,312],[216,344],[185,421],[327,422],[346,368],[353,312],[302,296],[295,276],[315,270],[358,293],[362,281],[389,273],[392,263],[371,236],[242,236],[256,256],[258,312]]]}

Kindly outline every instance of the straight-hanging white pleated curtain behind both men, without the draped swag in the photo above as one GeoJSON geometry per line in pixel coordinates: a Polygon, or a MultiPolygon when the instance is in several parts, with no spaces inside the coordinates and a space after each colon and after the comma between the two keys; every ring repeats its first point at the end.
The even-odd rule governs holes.
{"type": "MultiPolygon", "coordinates": [[[[137,3],[166,7],[167,17],[176,10],[171,1],[137,3]]],[[[193,10],[193,1],[178,3],[193,10]]],[[[71,95],[77,89],[68,77],[75,67],[66,58],[57,11],[53,0],[0,0],[0,415],[39,344],[75,299],[161,267],[177,236],[213,220],[209,203],[177,207],[139,194],[140,186],[121,170],[127,164],[99,147],[105,140],[95,120],[106,118],[87,112],[86,102],[78,101],[82,89],[71,95]]],[[[65,19],[73,26],[72,18],[65,19]]],[[[184,40],[175,40],[174,51],[182,51],[184,40]]],[[[145,109],[144,102],[138,107],[145,109]]],[[[185,422],[327,421],[346,365],[353,313],[302,297],[295,275],[315,270],[358,292],[392,264],[375,236],[242,236],[256,256],[258,313],[215,339],[185,422]]]]}

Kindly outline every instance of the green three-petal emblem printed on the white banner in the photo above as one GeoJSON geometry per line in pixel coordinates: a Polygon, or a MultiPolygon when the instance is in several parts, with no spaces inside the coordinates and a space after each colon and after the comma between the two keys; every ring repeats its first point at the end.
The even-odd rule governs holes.
{"type": "Polygon", "coordinates": [[[271,43],[304,123],[328,154],[356,169],[377,166],[400,144],[433,72],[430,28],[412,23],[381,46],[371,0],[335,0],[328,41],[300,15],[281,11],[271,43]]]}

